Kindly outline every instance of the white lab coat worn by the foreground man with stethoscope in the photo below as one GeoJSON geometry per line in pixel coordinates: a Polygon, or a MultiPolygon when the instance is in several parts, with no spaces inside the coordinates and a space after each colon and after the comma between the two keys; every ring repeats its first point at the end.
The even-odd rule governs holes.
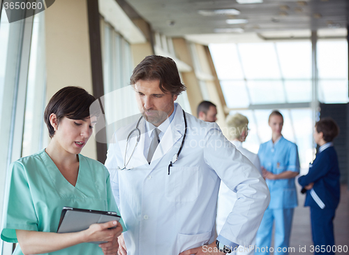
{"type": "MultiPolygon", "coordinates": [[[[126,138],[136,123],[114,134],[105,166],[128,228],[124,238],[130,255],[179,254],[214,241],[221,179],[239,198],[221,231],[230,242],[250,245],[269,204],[269,191],[258,170],[223,136],[218,125],[188,113],[186,120],[184,147],[170,175],[168,165],[184,136],[180,105],[150,165],[143,154],[144,119],[139,126],[140,143],[127,166],[131,170],[118,169],[124,168],[126,138]]],[[[135,140],[133,136],[128,142],[126,161],[135,140]]]]}

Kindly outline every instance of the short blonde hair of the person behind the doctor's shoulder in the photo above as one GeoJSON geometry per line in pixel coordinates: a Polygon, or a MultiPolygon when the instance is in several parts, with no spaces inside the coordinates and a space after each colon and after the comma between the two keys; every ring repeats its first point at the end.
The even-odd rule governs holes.
{"type": "Polygon", "coordinates": [[[225,123],[228,126],[230,140],[239,139],[243,131],[247,132],[248,119],[242,114],[228,115],[225,123]]]}

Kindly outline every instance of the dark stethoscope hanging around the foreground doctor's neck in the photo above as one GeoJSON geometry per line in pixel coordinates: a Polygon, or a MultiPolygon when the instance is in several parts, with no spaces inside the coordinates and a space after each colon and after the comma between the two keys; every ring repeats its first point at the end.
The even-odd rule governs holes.
{"type": "MultiPolygon", "coordinates": [[[[140,142],[140,129],[138,128],[138,126],[140,125],[140,121],[142,120],[142,118],[143,117],[141,116],[140,119],[138,119],[138,122],[137,122],[137,125],[135,126],[135,129],[131,130],[131,132],[128,133],[127,140],[126,140],[125,156],[124,156],[124,168],[119,168],[119,170],[131,170],[131,168],[126,168],[126,166],[130,162],[130,160],[133,156],[133,153],[135,152],[135,148],[137,147],[138,143],[140,142]],[[135,143],[135,147],[133,147],[133,150],[131,152],[131,156],[128,158],[128,161],[126,161],[128,140],[131,138],[131,136],[133,136],[133,133],[135,133],[135,132],[137,133],[137,140],[135,143]]],[[[174,162],[176,162],[178,160],[179,154],[181,153],[181,149],[183,148],[183,145],[184,145],[184,141],[186,140],[187,124],[186,124],[186,112],[184,112],[184,110],[183,110],[183,118],[184,118],[184,126],[185,126],[183,140],[181,140],[181,147],[179,147],[178,152],[172,156],[172,161],[170,161],[170,164],[168,165],[168,175],[170,175],[171,166],[173,166],[174,162]]]]}

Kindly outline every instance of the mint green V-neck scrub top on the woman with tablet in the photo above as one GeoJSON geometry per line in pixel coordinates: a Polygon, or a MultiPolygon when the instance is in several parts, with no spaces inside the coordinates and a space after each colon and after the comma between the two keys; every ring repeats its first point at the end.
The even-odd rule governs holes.
{"type": "MultiPolygon", "coordinates": [[[[57,232],[64,206],[117,212],[109,173],[102,163],[79,154],[75,187],[42,150],[10,165],[1,239],[17,242],[16,229],[57,232]]],[[[121,219],[121,225],[126,230],[121,219]]],[[[23,254],[17,245],[14,254],[23,254]]],[[[96,244],[82,243],[49,254],[103,254],[96,244]]]]}

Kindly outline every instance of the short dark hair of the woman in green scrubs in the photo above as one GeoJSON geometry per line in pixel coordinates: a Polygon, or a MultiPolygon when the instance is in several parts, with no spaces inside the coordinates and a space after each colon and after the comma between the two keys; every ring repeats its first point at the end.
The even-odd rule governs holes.
{"type": "Polygon", "coordinates": [[[99,112],[90,112],[90,106],[96,99],[86,90],[80,87],[64,87],[54,94],[48,102],[44,120],[47,125],[50,138],[54,136],[54,128],[50,123],[50,115],[57,116],[58,123],[63,117],[68,119],[86,119],[99,112]]]}

